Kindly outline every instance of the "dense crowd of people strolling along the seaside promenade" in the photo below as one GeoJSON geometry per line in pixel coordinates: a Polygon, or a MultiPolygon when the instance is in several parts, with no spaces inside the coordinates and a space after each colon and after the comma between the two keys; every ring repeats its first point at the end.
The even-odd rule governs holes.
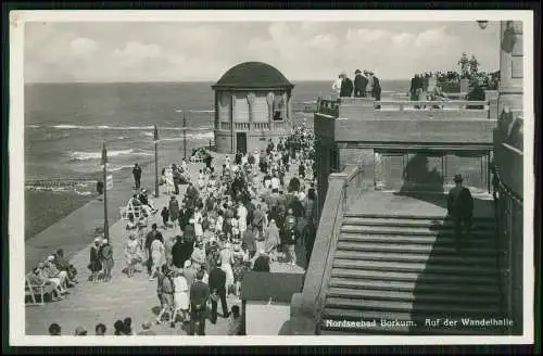
{"type": "MultiPolygon", "coordinates": [[[[226,156],[219,171],[205,161],[194,182],[187,175],[189,164],[173,165],[172,171],[187,177],[185,193],[172,193],[161,209],[162,224],[127,221],[124,262],[113,260],[111,244],[99,234],[90,249],[91,280],[111,281],[111,270],[119,265],[127,278],[144,270],[156,283],[156,323],[205,334],[206,320],[217,322],[220,304],[228,334],[243,334],[240,308],[229,307],[227,297],[240,296],[244,274],[302,265],[296,245],[305,252],[303,259],[311,257],[317,226],[313,141],[307,128],[295,127],[278,142],[269,140],[266,150],[226,156]]],[[[156,208],[143,204],[142,194],[131,204],[149,204],[153,215],[156,208]]],[[[150,322],[141,327],[138,334],[154,333],[150,322]]],[[[113,329],[115,335],[134,334],[130,318],[117,320],[113,329]]],[[[105,331],[104,325],[96,328],[97,334],[105,331]]],[[[50,333],[60,334],[60,326],[52,325],[50,333]]]]}

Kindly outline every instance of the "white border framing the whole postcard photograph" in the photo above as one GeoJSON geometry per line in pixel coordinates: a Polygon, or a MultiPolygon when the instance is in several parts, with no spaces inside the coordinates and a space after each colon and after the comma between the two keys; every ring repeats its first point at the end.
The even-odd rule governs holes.
{"type": "MultiPolygon", "coordinates": [[[[12,11],[10,20],[10,126],[9,126],[9,263],[11,346],[204,346],[204,345],[439,345],[532,344],[534,328],[534,107],[532,11],[12,11]],[[523,334],[518,336],[61,336],[25,335],[25,209],[24,209],[24,30],[27,22],[353,22],[353,21],[521,21],[523,26],[523,334]]],[[[476,26],[476,24],[473,24],[476,26]]],[[[496,48],[496,52],[498,48],[496,48]]]]}

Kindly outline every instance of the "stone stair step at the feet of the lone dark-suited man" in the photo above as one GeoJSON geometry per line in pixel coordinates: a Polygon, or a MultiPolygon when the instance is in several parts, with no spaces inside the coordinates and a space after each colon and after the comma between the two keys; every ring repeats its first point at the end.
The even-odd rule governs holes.
{"type": "Polygon", "coordinates": [[[364,251],[364,252],[396,252],[405,254],[433,254],[433,255],[450,255],[450,256],[484,256],[494,258],[496,256],[495,249],[481,249],[479,246],[467,246],[457,252],[454,245],[432,245],[420,243],[386,243],[386,242],[365,242],[365,241],[338,241],[338,250],[348,251],[364,251]]]}

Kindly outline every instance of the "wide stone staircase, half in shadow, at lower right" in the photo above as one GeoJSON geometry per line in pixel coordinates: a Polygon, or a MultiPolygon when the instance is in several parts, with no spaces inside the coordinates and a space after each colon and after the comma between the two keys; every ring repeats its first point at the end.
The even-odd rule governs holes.
{"type": "Polygon", "coordinates": [[[443,216],[344,214],[321,334],[498,335],[500,312],[492,218],[475,218],[459,253],[443,216]]]}

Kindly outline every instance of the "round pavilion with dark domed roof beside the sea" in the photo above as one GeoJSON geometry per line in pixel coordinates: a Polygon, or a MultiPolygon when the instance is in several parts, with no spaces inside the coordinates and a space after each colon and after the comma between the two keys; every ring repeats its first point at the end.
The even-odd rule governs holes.
{"type": "Polygon", "coordinates": [[[269,140],[277,143],[290,132],[294,85],[269,64],[238,64],[212,88],[217,152],[265,150],[269,140]]]}

